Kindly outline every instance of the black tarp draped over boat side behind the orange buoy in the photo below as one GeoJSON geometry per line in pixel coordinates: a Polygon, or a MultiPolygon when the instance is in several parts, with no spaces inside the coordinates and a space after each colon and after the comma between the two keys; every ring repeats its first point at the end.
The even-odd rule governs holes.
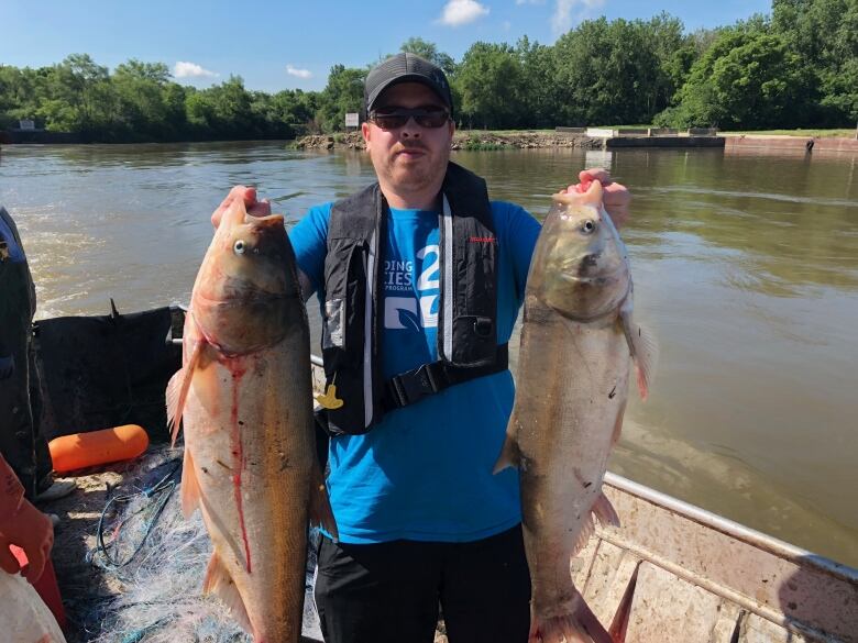
{"type": "Polygon", "coordinates": [[[164,391],[182,367],[172,339],[182,336],[183,322],[173,307],[34,324],[45,437],[140,424],[152,442],[166,441],[164,391]]]}

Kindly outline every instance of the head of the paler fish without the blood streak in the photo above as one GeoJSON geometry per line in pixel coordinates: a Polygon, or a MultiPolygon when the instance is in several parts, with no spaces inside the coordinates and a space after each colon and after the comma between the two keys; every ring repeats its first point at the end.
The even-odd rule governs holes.
{"type": "Polygon", "coordinates": [[[602,185],[559,192],[539,236],[531,277],[537,296],[576,321],[618,310],[630,288],[626,247],[602,204],[602,185]]]}

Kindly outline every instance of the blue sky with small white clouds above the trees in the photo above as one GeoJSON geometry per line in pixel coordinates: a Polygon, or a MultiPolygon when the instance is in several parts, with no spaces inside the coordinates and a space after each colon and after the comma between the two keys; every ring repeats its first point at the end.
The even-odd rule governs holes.
{"type": "Polygon", "coordinates": [[[332,65],[362,67],[413,36],[460,60],[475,41],[551,44],[588,18],[661,11],[694,31],[769,13],[771,0],[2,0],[0,65],[87,53],[111,69],[129,58],[165,63],[197,87],[235,74],[249,89],[319,90],[332,65]]]}

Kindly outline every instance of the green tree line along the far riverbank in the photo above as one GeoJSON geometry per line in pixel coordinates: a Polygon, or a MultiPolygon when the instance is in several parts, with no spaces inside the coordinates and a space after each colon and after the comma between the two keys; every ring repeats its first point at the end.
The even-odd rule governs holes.
{"type": "MultiPolygon", "coordinates": [[[[773,0],[770,15],[688,33],[668,13],[582,22],[553,45],[476,42],[457,62],[421,38],[402,51],[449,75],[460,128],[654,124],[851,126],[858,121],[858,0],[773,0]]],[[[344,129],[372,67],[334,65],[321,91],[196,89],[162,63],[112,74],[86,54],[0,66],[0,129],[34,119],[88,141],[292,138],[344,129]]]]}

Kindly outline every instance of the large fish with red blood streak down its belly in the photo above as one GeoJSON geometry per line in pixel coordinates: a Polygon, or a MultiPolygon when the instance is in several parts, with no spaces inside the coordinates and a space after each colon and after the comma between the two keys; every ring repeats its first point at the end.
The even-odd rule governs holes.
{"type": "Polygon", "coordinates": [[[283,217],[237,199],[194,284],[183,368],[167,388],[185,429],[182,506],[202,511],[217,592],[256,643],[297,643],[308,521],[336,533],[316,459],[310,344],[283,217]]]}

